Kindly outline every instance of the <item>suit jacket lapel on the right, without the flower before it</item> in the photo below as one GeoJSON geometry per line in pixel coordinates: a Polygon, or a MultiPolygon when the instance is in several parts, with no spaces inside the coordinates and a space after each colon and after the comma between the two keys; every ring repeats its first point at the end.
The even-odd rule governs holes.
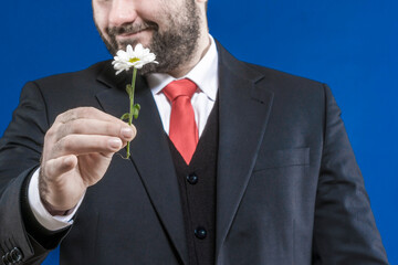
{"type": "Polygon", "coordinates": [[[247,189],[265,131],[273,93],[260,88],[262,74],[218,44],[220,136],[217,179],[216,258],[247,189]]]}

